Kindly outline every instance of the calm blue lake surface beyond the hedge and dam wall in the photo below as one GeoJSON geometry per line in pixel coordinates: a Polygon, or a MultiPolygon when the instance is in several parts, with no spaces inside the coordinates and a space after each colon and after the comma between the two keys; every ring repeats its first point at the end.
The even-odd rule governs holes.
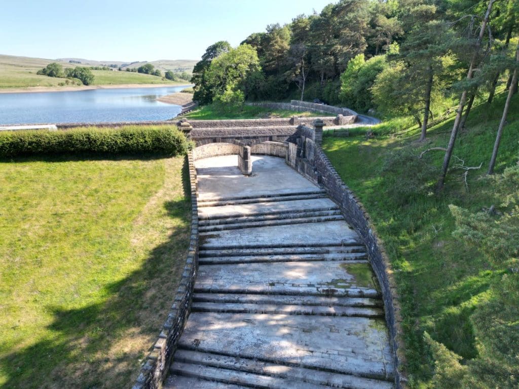
{"type": "Polygon", "coordinates": [[[186,87],[0,93],[0,124],[166,120],[182,108],[156,99],[186,87]]]}

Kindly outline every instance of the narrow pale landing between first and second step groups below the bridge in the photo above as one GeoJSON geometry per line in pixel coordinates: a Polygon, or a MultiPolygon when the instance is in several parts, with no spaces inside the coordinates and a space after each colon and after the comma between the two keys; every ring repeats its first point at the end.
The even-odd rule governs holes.
{"type": "Polygon", "coordinates": [[[233,219],[244,216],[298,214],[314,211],[334,211],[339,207],[330,199],[278,201],[275,203],[241,204],[236,206],[212,206],[200,208],[200,223],[207,220],[233,219]]]}

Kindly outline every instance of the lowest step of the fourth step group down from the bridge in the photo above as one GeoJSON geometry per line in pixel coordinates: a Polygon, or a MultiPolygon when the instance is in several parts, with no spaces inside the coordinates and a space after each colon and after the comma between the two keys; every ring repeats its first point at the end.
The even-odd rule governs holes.
{"type": "Polygon", "coordinates": [[[351,316],[383,317],[378,308],[358,307],[323,307],[322,305],[278,305],[278,304],[242,304],[220,302],[193,302],[192,312],[223,313],[267,313],[270,315],[316,315],[316,316],[351,316]]]}

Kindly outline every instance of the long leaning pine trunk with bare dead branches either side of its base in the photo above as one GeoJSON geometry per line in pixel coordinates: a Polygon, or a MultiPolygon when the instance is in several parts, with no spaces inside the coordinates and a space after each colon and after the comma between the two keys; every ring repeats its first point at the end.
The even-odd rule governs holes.
{"type": "MultiPolygon", "coordinates": [[[[494,5],[494,1],[495,0],[489,1],[488,8],[485,13],[485,18],[483,19],[483,22],[481,23],[480,35],[477,38],[476,47],[474,49],[474,53],[472,54],[472,59],[470,61],[469,72],[467,73],[468,80],[471,80],[474,77],[474,67],[476,65],[477,54],[479,54],[479,52],[480,52],[481,42],[483,40],[483,35],[485,34],[486,26],[488,24],[488,19],[490,18],[490,12],[492,11],[492,6],[494,5]]],[[[466,102],[467,102],[467,90],[464,90],[463,93],[461,93],[461,99],[459,101],[459,105],[458,105],[458,109],[457,109],[457,113],[456,113],[456,119],[454,120],[453,130],[450,133],[449,144],[447,146],[447,151],[445,152],[445,157],[443,159],[442,174],[440,176],[440,179],[438,180],[438,186],[437,186],[438,190],[441,190],[445,183],[445,176],[447,175],[447,169],[449,167],[450,157],[452,157],[452,155],[453,155],[454,143],[456,142],[456,137],[458,135],[459,124],[461,121],[461,114],[463,113],[463,108],[465,107],[466,102]]]]}

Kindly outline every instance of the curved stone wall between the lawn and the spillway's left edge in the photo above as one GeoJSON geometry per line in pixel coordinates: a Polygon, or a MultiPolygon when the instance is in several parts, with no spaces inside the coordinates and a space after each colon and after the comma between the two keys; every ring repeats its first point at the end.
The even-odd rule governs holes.
{"type": "Polygon", "coordinates": [[[146,357],[144,366],[132,389],[160,389],[166,378],[171,357],[176,344],[182,335],[184,325],[189,316],[193,289],[198,273],[198,205],[197,178],[192,152],[188,153],[189,180],[191,184],[192,221],[189,250],[182,273],[179,288],[176,291],[173,305],[162,326],[160,335],[153,350],[146,357]]]}

